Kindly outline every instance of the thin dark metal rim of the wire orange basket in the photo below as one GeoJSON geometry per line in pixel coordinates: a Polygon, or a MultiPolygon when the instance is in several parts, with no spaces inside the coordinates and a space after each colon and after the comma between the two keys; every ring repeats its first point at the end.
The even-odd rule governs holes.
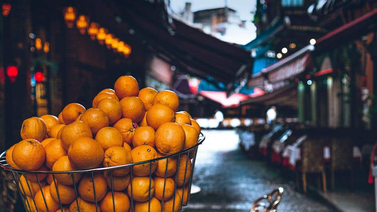
{"type": "Polygon", "coordinates": [[[136,163],[130,163],[130,164],[124,164],[124,165],[119,165],[119,166],[110,166],[110,167],[101,167],[101,168],[93,168],[93,169],[83,169],[83,170],[72,170],[72,171],[28,171],[28,170],[21,170],[21,169],[16,169],[16,168],[12,168],[9,166],[9,164],[7,163],[7,160],[6,160],[6,153],[8,150],[2,152],[0,154],[0,167],[2,167],[4,170],[7,170],[7,171],[12,171],[12,172],[19,172],[19,173],[33,173],[33,174],[69,174],[69,173],[83,173],[83,172],[96,172],[96,171],[107,171],[107,170],[113,170],[113,169],[120,169],[120,168],[126,168],[126,167],[132,167],[132,166],[135,166],[135,165],[139,165],[139,164],[144,164],[144,163],[151,163],[151,162],[156,162],[156,161],[159,161],[159,160],[164,160],[166,158],[172,158],[172,157],[175,157],[178,155],[178,157],[183,154],[183,153],[188,153],[189,151],[197,148],[199,145],[201,145],[203,143],[203,141],[206,139],[206,136],[201,132],[199,134],[199,139],[198,139],[198,143],[190,148],[187,148],[187,149],[184,149],[180,152],[177,152],[177,153],[174,153],[174,154],[171,154],[171,155],[165,155],[163,157],[159,157],[159,158],[156,158],[156,159],[151,159],[151,160],[145,160],[145,161],[140,161],[140,162],[136,162],[136,163]]]}

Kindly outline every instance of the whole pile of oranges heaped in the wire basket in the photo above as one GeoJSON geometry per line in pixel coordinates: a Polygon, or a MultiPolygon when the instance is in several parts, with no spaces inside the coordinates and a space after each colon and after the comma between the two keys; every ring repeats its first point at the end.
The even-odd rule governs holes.
{"type": "Polygon", "coordinates": [[[134,211],[178,211],[187,203],[193,152],[158,158],[195,146],[201,132],[178,107],[175,92],[139,90],[134,77],[121,76],[114,89],[93,98],[90,109],[73,102],[58,116],[24,120],[23,140],[7,151],[8,164],[60,172],[21,175],[28,210],[130,211],[134,201],[134,211]],[[146,160],[153,161],[139,163],[146,160]],[[87,169],[94,170],[62,173],[87,169]]]}

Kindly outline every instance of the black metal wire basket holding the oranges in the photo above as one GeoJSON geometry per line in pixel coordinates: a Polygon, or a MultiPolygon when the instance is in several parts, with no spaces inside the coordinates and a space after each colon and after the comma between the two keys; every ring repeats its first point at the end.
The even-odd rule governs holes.
{"type": "MultiPolygon", "coordinates": [[[[74,206],[72,207],[72,208],[75,208],[76,211],[82,211],[79,207],[80,206],[79,201],[80,200],[82,201],[82,199],[79,198],[80,195],[79,195],[79,192],[78,192],[78,185],[79,185],[80,181],[77,180],[77,174],[82,174],[82,175],[85,174],[89,178],[91,177],[90,181],[91,181],[92,186],[93,186],[92,191],[93,191],[94,201],[92,201],[92,202],[88,201],[88,202],[93,207],[95,206],[95,209],[93,209],[92,211],[95,211],[95,210],[101,211],[100,210],[101,199],[97,199],[97,195],[96,195],[95,174],[97,174],[97,173],[105,174],[105,172],[107,172],[106,174],[108,176],[110,176],[109,177],[110,183],[108,183],[107,193],[111,192],[111,194],[112,194],[112,199],[113,199],[112,207],[114,209],[113,211],[116,211],[116,202],[114,200],[114,194],[116,192],[123,192],[123,193],[126,193],[126,195],[129,197],[130,208],[129,208],[129,210],[127,210],[127,212],[128,211],[134,212],[134,211],[137,211],[137,210],[135,210],[135,206],[138,203],[138,201],[136,201],[134,199],[133,189],[137,189],[137,187],[133,186],[132,183],[133,183],[133,179],[135,179],[137,176],[133,175],[133,173],[132,173],[133,167],[135,167],[137,165],[139,165],[139,166],[143,165],[143,166],[149,167],[148,199],[146,201],[144,201],[144,203],[146,203],[146,202],[148,203],[148,207],[147,207],[147,208],[149,208],[148,211],[151,211],[151,199],[154,195],[153,183],[151,181],[155,177],[155,174],[153,173],[154,170],[152,170],[152,167],[153,167],[153,164],[157,163],[158,161],[166,160],[166,161],[164,161],[164,163],[166,163],[166,165],[165,165],[165,169],[164,169],[165,173],[164,173],[164,177],[163,177],[164,183],[163,183],[162,199],[159,200],[159,202],[161,203],[161,211],[178,211],[178,210],[182,209],[182,206],[187,205],[187,202],[190,199],[190,190],[191,190],[191,185],[192,185],[192,180],[193,180],[195,160],[196,160],[196,156],[197,156],[197,152],[198,152],[198,147],[199,147],[200,144],[203,143],[204,140],[205,140],[205,136],[204,136],[204,134],[201,133],[200,136],[199,136],[198,144],[196,144],[195,146],[193,146],[191,148],[180,151],[176,154],[163,156],[163,157],[153,159],[153,160],[147,160],[147,161],[142,161],[142,162],[138,162],[138,163],[132,163],[132,164],[126,164],[126,165],[120,165],[120,166],[113,166],[113,167],[96,168],[96,169],[88,169],[88,170],[75,170],[75,171],[25,171],[25,170],[18,170],[18,169],[11,167],[7,163],[7,161],[6,161],[7,151],[0,154],[0,166],[9,175],[13,175],[13,179],[14,179],[13,183],[16,184],[16,187],[17,187],[17,189],[20,193],[22,202],[24,203],[25,209],[27,211],[66,211],[66,210],[72,211],[72,210],[68,210],[68,208],[71,209],[70,208],[71,204],[74,204],[76,206],[76,207],[74,207],[74,206]],[[181,183],[181,182],[177,183],[178,178],[181,178],[181,176],[178,176],[179,174],[175,173],[174,175],[171,175],[171,176],[168,176],[168,174],[167,174],[169,162],[173,163],[174,161],[176,161],[176,167],[175,167],[176,172],[178,171],[178,169],[182,170],[184,168],[183,183],[181,183]],[[181,166],[179,165],[179,163],[181,163],[181,166]],[[183,164],[183,166],[182,166],[182,164],[183,164]],[[114,189],[114,183],[115,183],[114,179],[115,179],[116,176],[113,175],[113,172],[117,169],[124,169],[124,168],[130,169],[130,172],[129,172],[130,183],[127,186],[127,188],[131,187],[130,193],[128,192],[127,188],[124,189],[124,190],[115,190],[114,189]],[[43,180],[39,179],[39,178],[41,178],[40,176],[43,175],[43,174],[47,174],[47,175],[52,176],[52,182],[55,185],[56,193],[57,193],[57,197],[58,197],[58,202],[57,202],[58,205],[59,205],[58,208],[56,208],[56,205],[55,205],[55,208],[49,208],[48,201],[46,201],[48,196],[47,195],[45,196],[43,191],[42,191],[42,188],[45,185],[47,185],[47,183],[46,183],[47,177],[44,178],[43,180]],[[74,189],[75,198],[71,203],[62,202],[62,196],[59,195],[59,190],[58,190],[58,186],[57,186],[57,178],[56,178],[56,176],[58,176],[59,174],[67,174],[67,175],[70,175],[71,178],[72,178],[72,182],[73,182],[72,187],[74,189]],[[75,179],[75,176],[76,176],[76,179],[75,179]],[[21,181],[20,178],[24,178],[24,179],[22,179],[24,181],[20,182],[21,181]],[[36,181],[36,182],[31,181],[30,180],[31,178],[34,178],[34,181],[36,181]],[[174,190],[173,190],[172,197],[169,198],[169,199],[166,199],[165,195],[167,195],[168,191],[166,189],[166,193],[165,193],[165,185],[166,185],[166,180],[168,178],[171,178],[171,179],[174,180],[174,190]],[[26,181],[26,183],[25,183],[25,181],[26,181]],[[152,192],[152,190],[153,190],[153,192],[152,192]],[[43,197],[43,201],[44,201],[44,205],[42,205],[42,208],[38,208],[36,201],[35,201],[35,196],[36,196],[36,193],[38,191],[41,191],[40,193],[42,193],[42,197],[43,197]],[[177,192],[180,193],[180,194],[176,195],[177,192]],[[186,192],[185,193],[186,195],[184,195],[184,192],[186,192]],[[180,199],[176,200],[175,198],[178,198],[178,197],[180,199]],[[167,205],[168,201],[170,201],[169,205],[167,205]],[[166,204],[164,204],[164,203],[166,203],[166,204]],[[172,203],[172,206],[171,206],[171,203],[172,203]],[[165,208],[164,208],[164,206],[165,206],[165,208]]],[[[146,176],[146,177],[148,177],[148,176],[146,176]]],[[[179,181],[182,181],[182,180],[180,179],[179,181]]],[[[52,182],[51,182],[51,184],[52,184],[52,182]]],[[[40,205],[40,203],[39,203],[39,205],[40,205]]]]}

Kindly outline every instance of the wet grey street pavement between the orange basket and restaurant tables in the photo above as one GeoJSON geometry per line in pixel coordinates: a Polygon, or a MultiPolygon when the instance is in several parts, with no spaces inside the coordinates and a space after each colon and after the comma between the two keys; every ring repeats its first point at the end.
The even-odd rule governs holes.
{"type": "Polygon", "coordinates": [[[255,199],[281,186],[285,189],[278,211],[336,211],[314,195],[296,191],[294,183],[263,161],[251,159],[238,146],[233,130],[203,130],[191,195],[182,211],[250,211],[255,199]]]}

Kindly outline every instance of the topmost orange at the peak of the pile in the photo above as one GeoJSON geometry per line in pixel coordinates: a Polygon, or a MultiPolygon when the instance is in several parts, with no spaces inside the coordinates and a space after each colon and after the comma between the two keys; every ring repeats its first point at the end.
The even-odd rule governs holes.
{"type": "Polygon", "coordinates": [[[139,83],[133,76],[120,76],[114,83],[114,90],[119,99],[127,96],[137,96],[139,83]]]}

